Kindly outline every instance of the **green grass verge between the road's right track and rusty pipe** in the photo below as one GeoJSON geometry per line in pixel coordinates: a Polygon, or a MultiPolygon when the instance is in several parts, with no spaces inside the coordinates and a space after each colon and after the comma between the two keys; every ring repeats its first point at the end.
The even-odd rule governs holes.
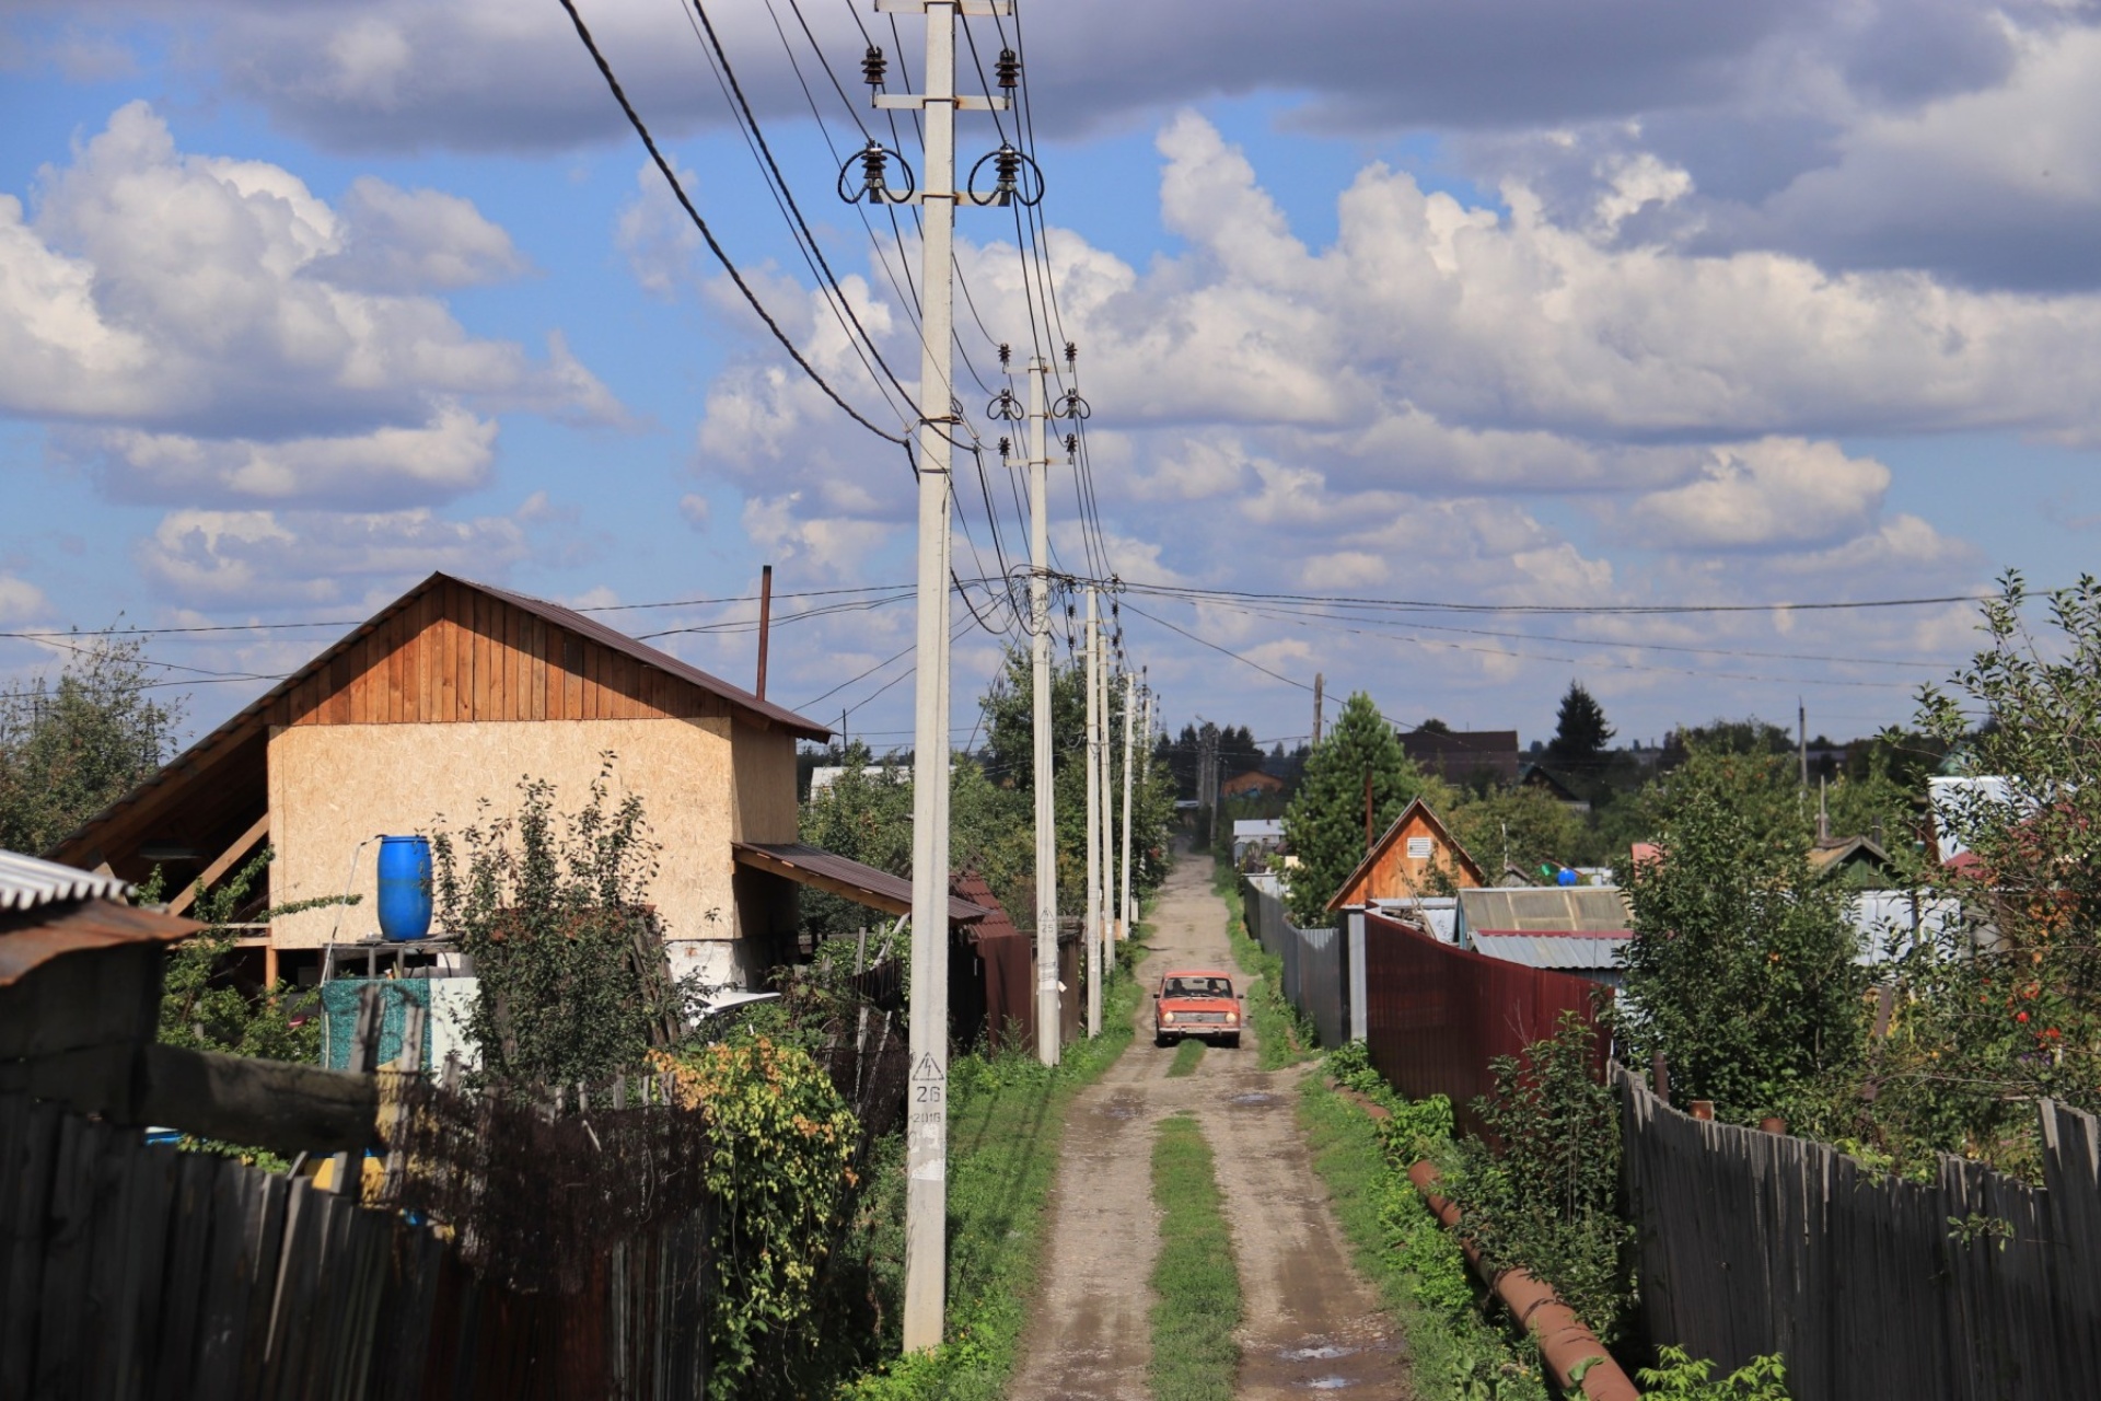
{"type": "MultiPolygon", "coordinates": [[[[1458,1241],[1437,1225],[1395,1162],[1410,1155],[1408,1145],[1389,1153],[1380,1126],[1330,1090],[1324,1075],[1307,1075],[1301,1094],[1298,1124],[1313,1168],[1328,1183],[1357,1269],[1408,1340],[1418,1401],[1546,1401],[1538,1355],[1481,1317],[1458,1241]]],[[[1410,1132],[1414,1107],[1391,1092],[1387,1099],[1401,1115],[1387,1130],[1397,1141],[1410,1132]]],[[[1448,1111],[1441,1117],[1450,1124],[1448,1111]]]]}

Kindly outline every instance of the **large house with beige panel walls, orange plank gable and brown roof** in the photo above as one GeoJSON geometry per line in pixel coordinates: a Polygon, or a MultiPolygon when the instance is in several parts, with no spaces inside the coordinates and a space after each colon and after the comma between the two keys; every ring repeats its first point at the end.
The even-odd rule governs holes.
{"type": "MultiPolygon", "coordinates": [[[[574,609],[433,573],[67,836],[50,857],[187,901],[265,842],[254,912],[267,977],[376,930],[378,836],[517,811],[519,781],[578,811],[607,754],[662,844],[649,899],[672,975],[752,985],[792,958],[792,876],[754,846],[796,838],[796,741],[830,731],[574,609]],[[740,849],[742,844],[742,849],[740,849]]],[[[252,916],[250,916],[252,918],[252,916]]]]}

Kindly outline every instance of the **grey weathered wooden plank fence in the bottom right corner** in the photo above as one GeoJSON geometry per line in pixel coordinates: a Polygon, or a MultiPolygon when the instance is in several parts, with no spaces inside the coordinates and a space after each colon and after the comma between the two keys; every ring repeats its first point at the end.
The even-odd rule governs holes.
{"type": "Polygon", "coordinates": [[[1651,1338],[1788,1363],[1796,1401],[2059,1401],[2101,1378],[2101,1124],[2044,1101],[2044,1187],[1906,1183],[1679,1113],[1614,1065],[1651,1338]]]}

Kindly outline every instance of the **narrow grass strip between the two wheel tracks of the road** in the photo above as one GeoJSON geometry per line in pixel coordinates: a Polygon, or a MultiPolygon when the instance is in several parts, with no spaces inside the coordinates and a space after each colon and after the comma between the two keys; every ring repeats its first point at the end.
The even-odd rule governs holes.
{"type": "MultiPolygon", "coordinates": [[[[1183,1042],[1189,1046],[1191,1042],[1183,1042]]],[[[1221,1210],[1210,1145],[1187,1113],[1160,1122],[1153,1138],[1153,1401],[1231,1401],[1240,1372],[1240,1271],[1221,1210]]]]}

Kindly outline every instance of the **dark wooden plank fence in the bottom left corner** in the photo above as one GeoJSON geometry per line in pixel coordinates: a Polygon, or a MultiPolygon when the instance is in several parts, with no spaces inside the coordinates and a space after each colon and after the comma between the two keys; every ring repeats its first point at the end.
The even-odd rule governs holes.
{"type": "Polygon", "coordinates": [[[706,1227],[513,1292],[397,1212],[0,1094],[0,1401],[687,1401],[706,1227]]]}

